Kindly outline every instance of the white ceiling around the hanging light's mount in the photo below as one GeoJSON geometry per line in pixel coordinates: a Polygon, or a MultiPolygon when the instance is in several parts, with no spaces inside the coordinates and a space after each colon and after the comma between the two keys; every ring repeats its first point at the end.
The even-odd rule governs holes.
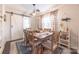
{"type": "MultiPolygon", "coordinates": [[[[22,11],[25,14],[30,14],[33,12],[33,5],[32,4],[7,4],[5,5],[8,9],[22,11]]],[[[44,13],[50,8],[55,7],[56,4],[36,4],[36,9],[40,10],[40,13],[44,13]]]]}

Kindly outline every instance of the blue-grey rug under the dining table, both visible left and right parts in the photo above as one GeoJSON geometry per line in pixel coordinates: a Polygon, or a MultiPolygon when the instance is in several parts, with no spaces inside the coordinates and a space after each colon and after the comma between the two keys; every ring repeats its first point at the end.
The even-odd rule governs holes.
{"type": "MultiPolygon", "coordinates": [[[[16,43],[18,54],[32,54],[32,49],[29,45],[25,46],[24,42],[17,42],[16,43]]],[[[54,54],[61,54],[63,52],[63,49],[58,47],[54,54]]]]}

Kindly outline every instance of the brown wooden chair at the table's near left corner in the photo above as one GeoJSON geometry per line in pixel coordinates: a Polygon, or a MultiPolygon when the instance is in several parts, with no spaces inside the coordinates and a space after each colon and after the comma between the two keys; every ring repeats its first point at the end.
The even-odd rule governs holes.
{"type": "Polygon", "coordinates": [[[28,32],[28,36],[27,36],[28,40],[29,40],[29,44],[32,46],[32,53],[37,53],[37,48],[39,47],[39,44],[41,43],[40,41],[38,41],[34,36],[33,36],[33,32],[28,32]]]}

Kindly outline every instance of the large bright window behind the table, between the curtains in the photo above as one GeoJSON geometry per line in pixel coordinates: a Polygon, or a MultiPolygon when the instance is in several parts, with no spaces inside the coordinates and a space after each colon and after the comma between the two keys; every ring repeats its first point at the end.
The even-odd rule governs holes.
{"type": "Polygon", "coordinates": [[[53,20],[50,15],[45,15],[42,18],[42,28],[52,29],[53,20]]]}

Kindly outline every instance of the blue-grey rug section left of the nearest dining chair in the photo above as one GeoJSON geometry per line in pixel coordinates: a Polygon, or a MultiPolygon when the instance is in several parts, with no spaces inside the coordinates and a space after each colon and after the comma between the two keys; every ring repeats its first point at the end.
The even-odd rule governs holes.
{"type": "Polygon", "coordinates": [[[18,54],[32,54],[32,49],[29,45],[25,45],[24,41],[16,42],[18,54]]]}

